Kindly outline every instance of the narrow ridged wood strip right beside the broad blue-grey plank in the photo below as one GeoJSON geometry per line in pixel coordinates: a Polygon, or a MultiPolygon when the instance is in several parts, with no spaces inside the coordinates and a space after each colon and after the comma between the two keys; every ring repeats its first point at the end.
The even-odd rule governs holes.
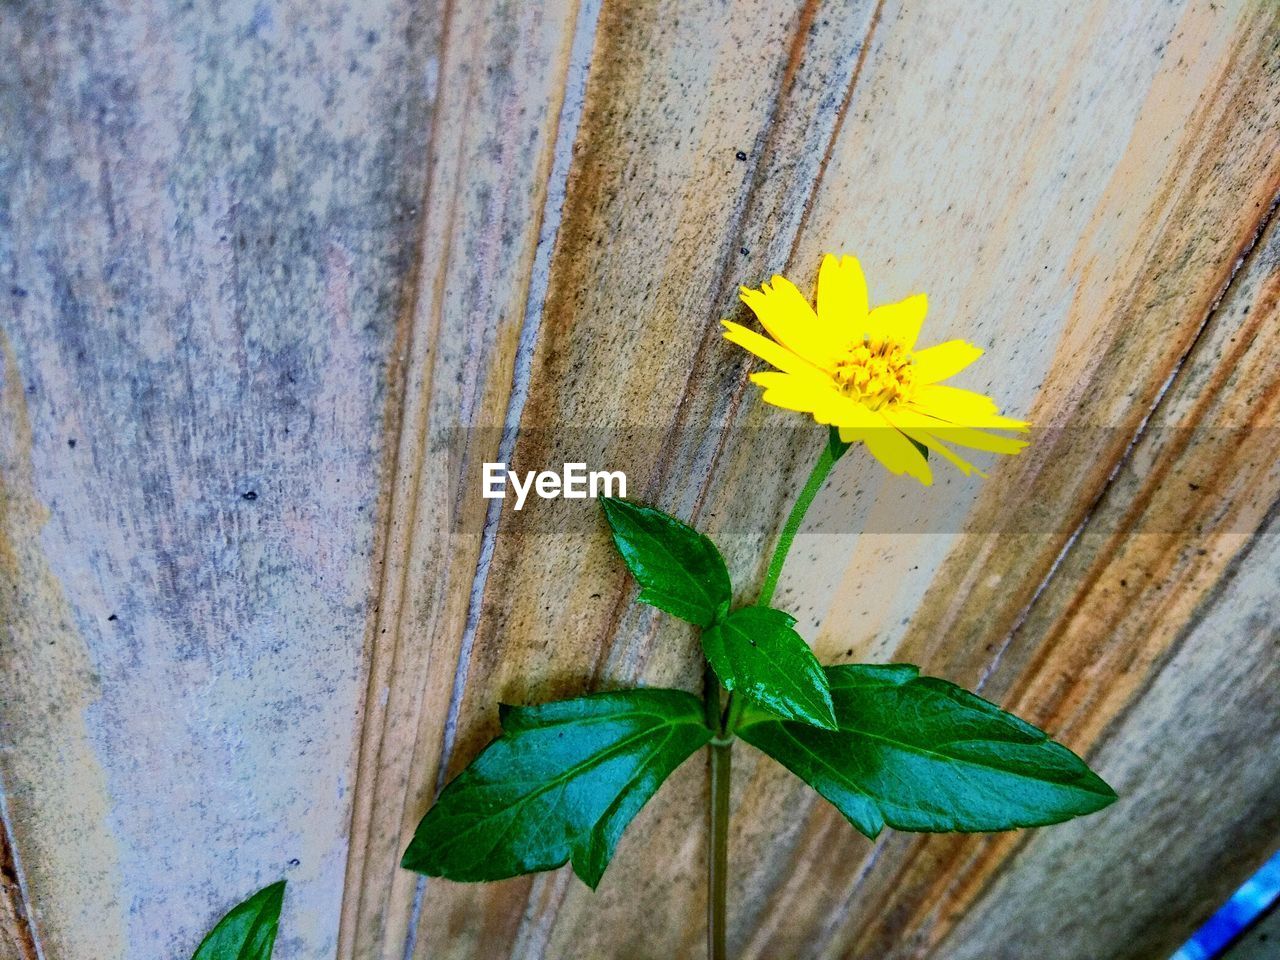
{"type": "Polygon", "coordinates": [[[590,52],[590,4],[458,4],[440,26],[422,256],[380,561],[339,956],[401,960],[421,879],[399,856],[439,785],[521,330],[536,324],[590,52]],[[557,137],[563,170],[556,169],[557,137]],[[556,184],[559,184],[557,187],[556,184]]]}

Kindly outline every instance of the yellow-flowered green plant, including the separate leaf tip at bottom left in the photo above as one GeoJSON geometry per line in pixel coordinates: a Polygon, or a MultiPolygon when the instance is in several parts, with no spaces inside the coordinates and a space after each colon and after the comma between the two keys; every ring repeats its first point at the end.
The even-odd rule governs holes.
{"type": "MultiPolygon", "coordinates": [[[[795,617],[772,605],[805,512],[855,444],[923,484],[933,479],[931,454],[982,475],[954,445],[998,454],[1025,445],[991,433],[1025,431],[1024,421],[1001,416],[988,397],[941,383],[982,351],[964,340],[916,349],[924,294],[869,308],[861,268],[849,256],[823,260],[817,310],[782,276],[744,288],[741,297],[769,337],[728,320],[724,337],[774,367],[751,375],[763,399],[828,428],[755,602],[733,607],[728,568],[705,535],[652,507],[603,502],[618,553],[640,585],[636,599],[698,628],[707,660],[701,698],[639,689],[500,707],[502,735],[444,787],[402,859],[407,869],[454,881],[495,881],[570,863],[595,888],[631,819],[680,764],[707,748],[712,960],[726,955],[736,740],[799,776],[868,837],[886,826],[1037,827],[1116,799],[1041,730],[911,664],[822,667],[795,617]]],[[[244,943],[268,932],[274,940],[282,888],[261,891],[223,925],[244,943]]],[[[264,954],[225,956],[269,957],[270,943],[264,954]]]]}

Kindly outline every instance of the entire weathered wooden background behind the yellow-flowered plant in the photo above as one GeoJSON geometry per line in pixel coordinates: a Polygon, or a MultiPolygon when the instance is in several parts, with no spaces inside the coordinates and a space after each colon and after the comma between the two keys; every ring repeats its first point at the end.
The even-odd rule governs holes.
{"type": "Polygon", "coordinates": [[[0,23],[4,960],[180,955],[282,873],[282,957],[696,956],[698,763],[594,895],[396,861],[498,700],[699,684],[598,524],[476,466],[625,467],[750,586],[822,438],[717,321],[827,250],[1041,429],[931,490],[849,457],[780,602],[1124,800],[870,844],[740,749],[735,954],[1155,959],[1275,846],[1274,4],[0,23]]]}

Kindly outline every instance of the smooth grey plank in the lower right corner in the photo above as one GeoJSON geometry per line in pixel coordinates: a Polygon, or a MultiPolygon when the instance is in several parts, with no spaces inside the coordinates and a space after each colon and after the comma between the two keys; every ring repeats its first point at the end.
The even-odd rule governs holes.
{"type": "Polygon", "coordinates": [[[973,904],[942,891],[940,913],[964,911],[955,931],[932,951],[890,956],[1158,960],[1266,860],[1280,838],[1275,517],[1096,749],[1120,804],[1023,838],[973,904]]]}

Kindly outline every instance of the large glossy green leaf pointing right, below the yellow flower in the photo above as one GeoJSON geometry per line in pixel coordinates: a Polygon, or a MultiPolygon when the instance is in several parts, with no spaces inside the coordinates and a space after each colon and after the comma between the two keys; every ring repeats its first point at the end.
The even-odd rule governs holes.
{"type": "Polygon", "coordinates": [[[833,732],[760,713],[737,735],[859,831],[997,831],[1059,823],[1116,799],[1084,760],[1025,721],[910,664],[828,667],[833,732]]]}

